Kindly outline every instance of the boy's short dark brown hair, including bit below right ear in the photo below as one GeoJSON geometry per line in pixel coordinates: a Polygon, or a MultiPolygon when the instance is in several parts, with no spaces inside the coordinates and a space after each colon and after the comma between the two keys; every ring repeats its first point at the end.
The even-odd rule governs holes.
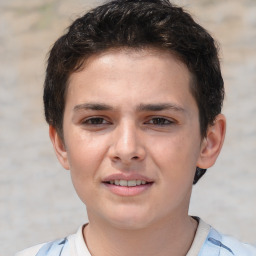
{"type": "MultiPolygon", "coordinates": [[[[204,137],[208,125],[221,112],[224,98],[218,48],[211,35],[187,12],[167,0],[114,0],[73,22],[55,42],[48,59],[44,83],[48,124],[63,136],[70,74],[78,71],[91,55],[117,47],[168,50],[186,64],[193,77],[190,89],[197,102],[204,137]]],[[[204,172],[199,169],[199,178],[204,172]]]]}

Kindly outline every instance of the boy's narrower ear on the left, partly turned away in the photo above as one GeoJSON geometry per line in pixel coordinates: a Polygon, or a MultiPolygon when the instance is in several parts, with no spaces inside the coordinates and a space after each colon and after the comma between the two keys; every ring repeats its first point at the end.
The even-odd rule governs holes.
{"type": "Polygon", "coordinates": [[[52,141],[53,148],[55,150],[56,156],[66,170],[69,170],[69,162],[68,162],[68,157],[67,157],[67,150],[65,147],[65,144],[63,140],[60,138],[58,132],[56,129],[50,125],[49,126],[49,136],[52,141]]]}

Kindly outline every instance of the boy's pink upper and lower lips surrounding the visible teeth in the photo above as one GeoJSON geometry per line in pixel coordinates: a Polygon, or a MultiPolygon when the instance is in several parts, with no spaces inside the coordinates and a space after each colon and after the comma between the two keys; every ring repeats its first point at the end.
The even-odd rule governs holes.
{"type": "Polygon", "coordinates": [[[102,184],[107,188],[111,193],[122,196],[122,197],[131,197],[131,196],[137,196],[144,192],[146,192],[149,188],[152,187],[154,184],[153,179],[146,177],[144,175],[136,174],[136,173],[116,173],[111,174],[107,177],[105,177],[102,180],[102,184]],[[126,186],[118,186],[114,184],[107,183],[111,180],[143,180],[146,181],[147,184],[134,186],[134,187],[126,187],[126,186]]]}

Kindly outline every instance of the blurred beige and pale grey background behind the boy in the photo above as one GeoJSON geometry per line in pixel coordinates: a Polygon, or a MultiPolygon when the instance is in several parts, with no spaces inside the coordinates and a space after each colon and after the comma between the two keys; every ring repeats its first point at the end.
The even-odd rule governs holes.
{"type": "MultiPolygon", "coordinates": [[[[66,236],[87,220],[43,118],[46,55],[102,1],[0,0],[0,255],[66,236]]],[[[227,135],[194,187],[190,214],[256,244],[256,1],[180,0],[219,41],[227,135]]]]}

